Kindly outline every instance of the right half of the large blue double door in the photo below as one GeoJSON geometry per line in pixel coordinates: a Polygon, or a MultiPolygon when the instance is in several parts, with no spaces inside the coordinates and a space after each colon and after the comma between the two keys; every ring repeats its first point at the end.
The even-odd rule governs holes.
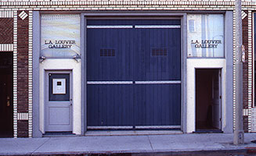
{"type": "Polygon", "coordinates": [[[135,125],[137,128],[178,128],[181,117],[180,21],[137,21],[134,38],[135,125]]]}

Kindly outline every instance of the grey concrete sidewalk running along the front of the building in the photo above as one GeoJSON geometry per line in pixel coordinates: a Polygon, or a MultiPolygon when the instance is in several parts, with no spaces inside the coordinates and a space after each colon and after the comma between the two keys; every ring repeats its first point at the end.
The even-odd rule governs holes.
{"type": "Polygon", "coordinates": [[[256,155],[256,133],[246,133],[245,143],[233,145],[233,134],[170,134],[2,138],[1,155],[256,155]]]}

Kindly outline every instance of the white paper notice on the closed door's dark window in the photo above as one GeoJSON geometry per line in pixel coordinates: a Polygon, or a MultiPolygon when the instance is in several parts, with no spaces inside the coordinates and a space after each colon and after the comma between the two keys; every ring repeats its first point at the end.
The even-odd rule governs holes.
{"type": "Polygon", "coordinates": [[[52,79],[52,94],[66,94],[66,79],[52,79]]]}

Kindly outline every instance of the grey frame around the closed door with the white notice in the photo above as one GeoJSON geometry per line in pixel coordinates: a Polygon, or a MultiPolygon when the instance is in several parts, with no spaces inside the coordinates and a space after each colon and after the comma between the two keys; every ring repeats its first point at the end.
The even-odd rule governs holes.
{"type": "MultiPolygon", "coordinates": [[[[44,74],[44,80],[45,80],[45,86],[44,86],[44,90],[45,90],[45,93],[44,93],[44,127],[45,127],[45,130],[44,130],[44,133],[47,131],[46,130],[46,125],[47,125],[47,103],[48,103],[48,99],[49,99],[49,73],[69,73],[70,74],[70,99],[73,99],[73,74],[72,74],[72,71],[71,70],[45,70],[45,74],[44,74]]],[[[71,131],[73,133],[73,120],[74,120],[74,117],[73,117],[73,114],[74,114],[74,107],[73,107],[73,104],[70,105],[70,126],[71,126],[71,131]]]]}

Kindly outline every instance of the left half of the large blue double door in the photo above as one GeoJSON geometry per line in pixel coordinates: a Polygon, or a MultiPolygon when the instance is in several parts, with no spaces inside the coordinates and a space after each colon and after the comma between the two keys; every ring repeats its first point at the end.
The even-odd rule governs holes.
{"type": "Polygon", "coordinates": [[[88,126],[109,129],[133,125],[132,50],[131,24],[88,20],[88,126]]]}

